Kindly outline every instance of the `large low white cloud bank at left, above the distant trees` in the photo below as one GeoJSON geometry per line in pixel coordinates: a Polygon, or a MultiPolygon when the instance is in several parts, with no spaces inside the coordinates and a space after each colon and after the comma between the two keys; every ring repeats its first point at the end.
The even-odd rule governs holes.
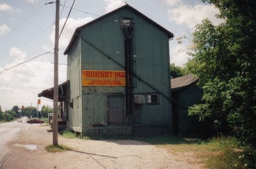
{"type": "MultiPolygon", "coordinates": [[[[19,64],[22,62],[21,59],[28,57],[25,51],[16,47],[11,49],[10,55],[16,58],[15,61],[6,64],[5,67],[0,68],[0,70],[19,64]]],[[[42,57],[38,57],[32,61],[20,64],[11,70],[0,73],[0,105],[3,109],[10,109],[15,105],[28,107],[31,106],[31,103],[33,107],[36,107],[38,93],[53,87],[54,64],[45,61],[50,59],[52,62],[52,54],[42,55],[42,57]]],[[[60,65],[59,84],[65,82],[66,79],[67,65],[60,65]]],[[[42,105],[52,106],[52,102],[46,101],[44,98],[41,102],[42,105]]]]}

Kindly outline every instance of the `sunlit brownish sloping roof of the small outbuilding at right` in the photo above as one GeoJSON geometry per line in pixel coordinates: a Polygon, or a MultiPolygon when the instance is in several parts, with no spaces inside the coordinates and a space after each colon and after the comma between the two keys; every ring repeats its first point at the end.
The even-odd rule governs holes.
{"type": "Polygon", "coordinates": [[[198,78],[195,75],[189,74],[183,77],[177,77],[171,79],[172,91],[179,91],[185,87],[198,82],[198,78]]]}

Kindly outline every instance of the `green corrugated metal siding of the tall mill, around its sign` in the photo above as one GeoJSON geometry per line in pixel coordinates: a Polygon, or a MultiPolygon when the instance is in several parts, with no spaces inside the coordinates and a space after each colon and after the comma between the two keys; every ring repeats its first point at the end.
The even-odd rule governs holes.
{"type": "MultiPolygon", "coordinates": [[[[136,70],[134,73],[163,92],[164,95],[170,97],[168,34],[153,26],[151,22],[124,8],[84,27],[81,30],[81,36],[124,66],[124,33],[120,29],[121,17],[133,18],[135,23],[133,44],[134,55],[137,57],[134,57],[134,70],[136,70]]],[[[78,57],[76,60],[76,54],[72,52],[71,55],[72,58],[74,57],[74,61],[68,66],[70,67],[68,69],[69,73],[71,73],[70,75],[75,75],[74,79],[70,80],[70,87],[72,87],[74,93],[70,94],[73,97],[82,94],[81,110],[83,115],[80,115],[82,112],[79,112],[76,108],[74,108],[74,111],[76,110],[78,113],[77,118],[83,119],[83,131],[93,123],[107,122],[107,94],[125,94],[125,87],[81,87],[81,70],[123,70],[121,66],[108,59],[106,55],[100,53],[86,41],[81,40],[80,42],[81,60],[78,57]],[[81,67],[76,67],[75,63],[78,63],[81,67]],[[77,75],[79,75],[79,78],[77,75]],[[80,87],[81,91],[79,91],[80,87]]],[[[78,45],[80,47],[80,44],[78,45]]],[[[136,78],[134,78],[134,84],[136,84],[134,94],[156,92],[148,85],[140,82],[140,80],[136,80],[136,78]]],[[[133,122],[143,125],[171,125],[171,111],[172,105],[170,101],[159,94],[159,105],[136,105],[133,122]]],[[[81,119],[72,119],[72,122],[74,125],[79,126],[81,119]]]]}

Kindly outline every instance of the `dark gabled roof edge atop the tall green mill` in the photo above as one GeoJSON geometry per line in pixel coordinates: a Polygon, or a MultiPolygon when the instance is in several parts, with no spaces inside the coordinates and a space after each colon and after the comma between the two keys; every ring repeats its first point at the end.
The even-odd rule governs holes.
{"type": "Polygon", "coordinates": [[[70,48],[72,47],[74,41],[76,40],[76,38],[77,38],[77,36],[79,34],[79,31],[81,31],[81,29],[83,29],[83,27],[86,27],[86,26],[88,26],[90,24],[93,24],[93,23],[99,21],[100,19],[108,17],[112,13],[115,13],[116,11],[122,10],[124,8],[129,8],[130,10],[134,11],[135,13],[138,13],[139,15],[141,15],[141,17],[145,18],[145,20],[148,20],[149,22],[154,24],[156,27],[158,27],[159,29],[162,29],[164,32],[166,32],[169,35],[169,39],[173,38],[173,36],[174,36],[173,33],[168,31],[164,27],[160,26],[159,24],[154,22],[154,20],[148,18],[146,15],[143,15],[140,11],[136,10],[135,8],[132,8],[132,6],[130,6],[129,4],[125,4],[124,6],[121,6],[120,8],[117,8],[116,10],[113,10],[113,11],[111,11],[109,13],[106,13],[105,15],[102,15],[101,17],[96,18],[95,20],[92,20],[91,22],[88,22],[87,24],[84,24],[83,26],[77,27],[76,31],[74,32],[74,34],[73,34],[73,36],[72,36],[72,38],[71,38],[71,40],[70,40],[70,42],[68,44],[68,47],[66,48],[66,50],[64,52],[64,55],[66,55],[68,53],[68,50],[70,50],[70,48]]]}

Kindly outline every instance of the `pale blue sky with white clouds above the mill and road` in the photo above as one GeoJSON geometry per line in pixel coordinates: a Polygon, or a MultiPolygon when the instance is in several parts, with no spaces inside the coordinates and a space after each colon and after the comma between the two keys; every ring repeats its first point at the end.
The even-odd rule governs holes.
{"type": "MultiPolygon", "coordinates": [[[[38,93],[54,85],[56,4],[49,2],[52,1],[0,1],[0,106],[3,111],[15,105],[37,107],[38,93]]],[[[60,29],[72,3],[73,0],[60,0],[60,29]]],[[[176,66],[184,66],[190,57],[187,54],[189,40],[196,24],[205,18],[214,25],[222,22],[216,18],[218,9],[196,0],[76,0],[60,37],[59,84],[67,80],[67,55],[63,52],[76,28],[125,3],[175,35],[170,41],[170,62],[176,66]],[[184,36],[187,38],[183,43],[178,43],[184,36]]],[[[39,109],[43,105],[52,107],[51,100],[40,99],[39,109]]]]}

